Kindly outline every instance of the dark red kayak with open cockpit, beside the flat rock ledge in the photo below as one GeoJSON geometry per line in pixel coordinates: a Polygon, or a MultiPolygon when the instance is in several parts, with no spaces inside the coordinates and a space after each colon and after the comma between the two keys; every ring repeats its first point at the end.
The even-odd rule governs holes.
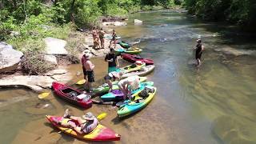
{"type": "Polygon", "coordinates": [[[90,100],[90,95],[83,94],[81,90],[74,89],[58,82],[53,82],[52,88],[54,89],[54,94],[59,98],[63,98],[74,105],[88,109],[93,104],[90,100]]]}

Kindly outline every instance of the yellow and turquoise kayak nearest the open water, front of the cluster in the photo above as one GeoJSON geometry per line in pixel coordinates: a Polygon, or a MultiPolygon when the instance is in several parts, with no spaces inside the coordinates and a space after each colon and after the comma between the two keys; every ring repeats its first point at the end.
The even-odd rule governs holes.
{"type": "Polygon", "coordinates": [[[130,114],[134,114],[138,110],[142,110],[144,107],[147,106],[151,102],[151,100],[154,98],[154,95],[157,91],[157,88],[154,87],[154,92],[149,93],[146,99],[143,99],[140,97],[138,93],[134,94],[134,97],[132,98],[133,100],[126,100],[124,105],[120,106],[118,108],[118,117],[122,118],[130,114]]]}

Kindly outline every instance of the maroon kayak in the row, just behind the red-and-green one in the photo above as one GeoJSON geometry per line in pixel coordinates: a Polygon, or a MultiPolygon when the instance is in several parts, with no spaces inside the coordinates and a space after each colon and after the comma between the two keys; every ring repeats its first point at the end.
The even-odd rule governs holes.
{"type": "Polygon", "coordinates": [[[138,55],[134,55],[134,54],[121,54],[121,57],[128,62],[134,63],[136,61],[141,61],[146,63],[146,65],[154,65],[154,61],[152,59],[141,58],[138,55]]]}

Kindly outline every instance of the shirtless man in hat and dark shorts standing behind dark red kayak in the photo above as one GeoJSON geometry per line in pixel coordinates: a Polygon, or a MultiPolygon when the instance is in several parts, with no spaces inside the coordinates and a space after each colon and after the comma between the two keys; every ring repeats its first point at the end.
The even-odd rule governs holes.
{"type": "Polygon", "coordinates": [[[94,64],[90,62],[91,54],[85,52],[82,56],[82,71],[84,78],[86,79],[85,89],[89,92],[91,91],[91,83],[95,82],[94,80],[94,64]],[[87,76],[87,78],[86,78],[87,76]]]}

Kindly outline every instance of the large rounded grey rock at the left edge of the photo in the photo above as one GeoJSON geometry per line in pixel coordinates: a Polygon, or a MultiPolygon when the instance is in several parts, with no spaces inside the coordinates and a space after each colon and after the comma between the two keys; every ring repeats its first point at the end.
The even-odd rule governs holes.
{"type": "Polygon", "coordinates": [[[14,50],[12,46],[0,42],[0,72],[16,70],[23,53],[14,50]]]}

